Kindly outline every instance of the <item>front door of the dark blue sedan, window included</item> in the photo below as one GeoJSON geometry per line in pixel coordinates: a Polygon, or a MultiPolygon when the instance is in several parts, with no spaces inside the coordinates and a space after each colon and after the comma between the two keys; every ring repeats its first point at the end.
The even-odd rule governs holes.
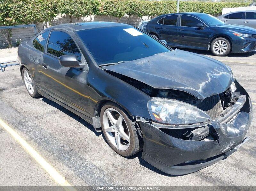
{"type": "Polygon", "coordinates": [[[177,44],[179,47],[199,49],[207,48],[210,27],[204,24],[204,28],[200,29],[196,27],[199,23],[204,24],[204,22],[193,16],[181,15],[177,38],[177,44]]]}

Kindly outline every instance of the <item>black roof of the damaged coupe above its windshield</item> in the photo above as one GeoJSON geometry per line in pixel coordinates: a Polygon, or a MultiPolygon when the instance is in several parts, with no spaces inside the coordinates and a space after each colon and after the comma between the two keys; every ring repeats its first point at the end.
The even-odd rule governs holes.
{"type": "Polygon", "coordinates": [[[68,26],[70,28],[73,28],[75,31],[77,31],[77,30],[84,30],[84,29],[114,27],[114,26],[130,26],[130,25],[123,24],[123,23],[114,23],[114,22],[90,21],[90,22],[80,22],[80,23],[66,23],[66,24],[61,24],[57,26],[58,27],[68,26]]]}

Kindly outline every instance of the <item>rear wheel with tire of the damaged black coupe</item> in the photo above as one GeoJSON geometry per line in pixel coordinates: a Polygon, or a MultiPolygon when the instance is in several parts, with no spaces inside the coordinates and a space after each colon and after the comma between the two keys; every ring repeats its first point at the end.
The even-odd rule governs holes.
{"type": "Polygon", "coordinates": [[[40,96],[40,94],[37,92],[37,86],[35,84],[35,81],[34,81],[32,75],[30,74],[28,69],[25,67],[22,69],[22,80],[26,86],[28,94],[32,98],[36,98],[36,97],[40,96]]]}

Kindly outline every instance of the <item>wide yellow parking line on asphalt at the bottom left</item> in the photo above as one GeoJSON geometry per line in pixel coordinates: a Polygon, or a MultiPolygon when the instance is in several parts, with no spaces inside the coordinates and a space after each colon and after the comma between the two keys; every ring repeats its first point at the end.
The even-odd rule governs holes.
{"type": "Polygon", "coordinates": [[[64,177],[62,177],[53,167],[50,165],[33,147],[31,147],[21,136],[19,136],[9,125],[0,119],[0,125],[10,133],[13,138],[24,147],[24,149],[30,154],[39,165],[55,180],[60,186],[63,186],[65,190],[76,190],[72,187],[64,177]],[[67,187],[68,186],[68,187],[67,187]]]}

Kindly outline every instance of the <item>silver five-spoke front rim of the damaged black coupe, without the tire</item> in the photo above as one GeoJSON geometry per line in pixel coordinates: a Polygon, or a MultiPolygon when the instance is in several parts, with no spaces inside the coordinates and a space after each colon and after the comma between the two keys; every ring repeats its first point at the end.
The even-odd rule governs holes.
{"type": "Polygon", "coordinates": [[[103,128],[108,140],[119,151],[125,151],[130,145],[130,132],[123,116],[113,108],[103,114],[103,128]]]}

